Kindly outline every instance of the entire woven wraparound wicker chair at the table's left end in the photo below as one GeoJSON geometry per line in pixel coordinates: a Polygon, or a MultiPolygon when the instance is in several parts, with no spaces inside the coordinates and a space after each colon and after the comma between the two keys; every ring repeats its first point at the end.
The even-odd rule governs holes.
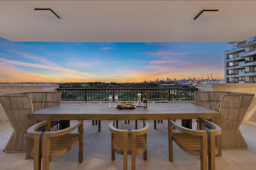
{"type": "MultiPolygon", "coordinates": [[[[14,129],[5,152],[26,152],[26,114],[60,104],[60,92],[23,92],[0,95],[0,103],[14,129]]],[[[36,122],[35,122],[36,123],[36,122]]],[[[58,130],[58,120],[51,122],[58,130]]],[[[44,127],[40,129],[44,131],[44,127]]]]}

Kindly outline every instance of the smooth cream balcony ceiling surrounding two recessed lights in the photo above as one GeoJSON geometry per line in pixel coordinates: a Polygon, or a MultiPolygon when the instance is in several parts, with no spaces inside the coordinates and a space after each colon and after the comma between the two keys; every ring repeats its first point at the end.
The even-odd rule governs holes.
{"type": "Polygon", "coordinates": [[[1,0],[0,37],[40,42],[230,42],[256,36],[254,0],[1,0]],[[58,21],[34,8],[51,8],[58,21]],[[202,10],[219,10],[195,22],[202,10]]]}

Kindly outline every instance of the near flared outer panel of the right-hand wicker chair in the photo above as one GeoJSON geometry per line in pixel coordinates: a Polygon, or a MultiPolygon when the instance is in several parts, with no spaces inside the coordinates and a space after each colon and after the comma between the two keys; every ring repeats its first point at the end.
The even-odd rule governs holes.
{"type": "Polygon", "coordinates": [[[246,149],[247,143],[239,130],[254,94],[225,94],[220,104],[222,149],[246,149]]]}

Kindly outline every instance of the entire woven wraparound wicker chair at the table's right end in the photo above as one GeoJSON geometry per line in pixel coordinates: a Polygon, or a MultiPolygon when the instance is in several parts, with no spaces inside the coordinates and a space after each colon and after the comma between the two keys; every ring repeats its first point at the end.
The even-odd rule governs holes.
{"type": "MultiPolygon", "coordinates": [[[[246,149],[239,127],[254,98],[251,93],[195,92],[195,104],[220,111],[222,149],[246,149]]],[[[215,122],[215,120],[213,121],[215,122]]]]}

